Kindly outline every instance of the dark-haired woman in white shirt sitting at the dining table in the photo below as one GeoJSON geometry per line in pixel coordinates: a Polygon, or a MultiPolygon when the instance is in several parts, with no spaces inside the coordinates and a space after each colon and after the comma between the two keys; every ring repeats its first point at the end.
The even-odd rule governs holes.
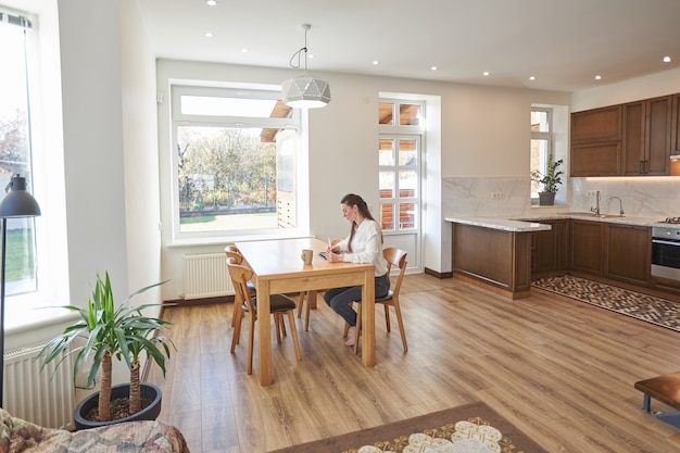
{"type": "MultiPolygon", "coordinates": [[[[373,263],[376,275],[376,298],[387,295],[390,289],[390,277],[382,257],[382,231],[373,218],[363,198],[349,193],[340,200],[342,216],[350,221],[350,236],[335,246],[328,246],[326,260],[329,262],[373,263]]],[[[345,345],[354,345],[356,329],[356,312],[352,302],[362,300],[362,287],[344,287],[329,289],[324,293],[326,304],[350,325],[345,345]]]]}

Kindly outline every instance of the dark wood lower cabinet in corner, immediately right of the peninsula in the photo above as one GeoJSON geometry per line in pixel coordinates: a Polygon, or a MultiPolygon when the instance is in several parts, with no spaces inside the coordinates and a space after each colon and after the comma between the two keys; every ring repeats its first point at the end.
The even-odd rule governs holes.
{"type": "Polygon", "coordinates": [[[568,265],[568,219],[541,221],[551,226],[547,231],[531,234],[531,276],[564,274],[568,265]]]}

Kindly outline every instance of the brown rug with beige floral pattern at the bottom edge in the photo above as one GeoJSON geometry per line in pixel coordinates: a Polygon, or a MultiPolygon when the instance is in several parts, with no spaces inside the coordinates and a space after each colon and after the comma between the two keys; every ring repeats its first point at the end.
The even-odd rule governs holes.
{"type": "Polygon", "coordinates": [[[546,453],[482,402],[273,453],[546,453]]]}

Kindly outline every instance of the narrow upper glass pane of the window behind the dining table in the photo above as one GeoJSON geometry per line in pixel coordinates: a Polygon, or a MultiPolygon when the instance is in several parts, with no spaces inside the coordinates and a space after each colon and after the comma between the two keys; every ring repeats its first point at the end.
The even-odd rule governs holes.
{"type": "Polygon", "coordinates": [[[284,105],[274,99],[242,99],[226,98],[218,96],[191,96],[179,97],[181,113],[185,115],[206,116],[247,116],[254,118],[290,117],[292,109],[286,108],[286,112],[275,108],[284,105]]]}

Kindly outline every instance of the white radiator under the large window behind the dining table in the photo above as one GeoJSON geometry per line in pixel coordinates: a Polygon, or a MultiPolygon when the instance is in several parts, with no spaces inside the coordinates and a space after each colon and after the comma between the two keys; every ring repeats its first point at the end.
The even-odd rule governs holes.
{"type": "Polygon", "coordinates": [[[224,253],[185,255],[185,299],[234,294],[224,253]]]}

